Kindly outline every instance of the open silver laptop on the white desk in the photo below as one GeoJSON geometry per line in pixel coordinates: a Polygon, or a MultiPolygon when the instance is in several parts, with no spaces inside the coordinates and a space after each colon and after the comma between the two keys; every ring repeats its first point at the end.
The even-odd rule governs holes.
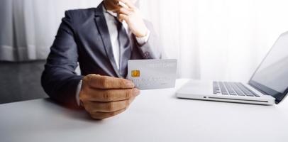
{"type": "Polygon", "coordinates": [[[190,80],[178,98],[248,104],[278,104],[288,93],[288,32],[279,36],[248,83],[190,80]]]}

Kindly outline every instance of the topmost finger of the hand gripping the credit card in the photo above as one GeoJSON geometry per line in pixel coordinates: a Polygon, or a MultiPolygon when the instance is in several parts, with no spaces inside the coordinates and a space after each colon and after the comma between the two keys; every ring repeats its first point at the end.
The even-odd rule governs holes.
{"type": "Polygon", "coordinates": [[[130,80],[101,75],[88,75],[87,80],[90,87],[98,89],[129,89],[135,86],[130,80]]]}

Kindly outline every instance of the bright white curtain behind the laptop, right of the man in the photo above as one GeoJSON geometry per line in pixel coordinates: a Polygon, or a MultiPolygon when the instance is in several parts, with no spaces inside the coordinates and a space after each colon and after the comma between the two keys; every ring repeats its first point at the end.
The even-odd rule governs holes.
{"type": "Polygon", "coordinates": [[[287,6],[287,0],[140,1],[168,57],[178,59],[179,77],[243,82],[288,31],[287,6]]]}

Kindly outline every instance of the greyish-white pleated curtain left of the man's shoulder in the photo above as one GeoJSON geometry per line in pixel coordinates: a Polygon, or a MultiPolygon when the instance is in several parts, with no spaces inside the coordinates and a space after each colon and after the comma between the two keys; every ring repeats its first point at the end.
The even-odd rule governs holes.
{"type": "Polygon", "coordinates": [[[47,58],[65,10],[96,7],[101,0],[0,0],[0,60],[47,58]]]}

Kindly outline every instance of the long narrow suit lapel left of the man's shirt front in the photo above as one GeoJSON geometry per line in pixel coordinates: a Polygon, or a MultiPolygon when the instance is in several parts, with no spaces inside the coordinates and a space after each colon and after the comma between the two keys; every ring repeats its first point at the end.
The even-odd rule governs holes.
{"type": "Polygon", "coordinates": [[[109,34],[108,27],[107,27],[106,19],[105,19],[104,13],[103,13],[103,2],[101,4],[99,4],[99,6],[95,10],[95,22],[96,22],[96,26],[98,28],[98,31],[101,35],[101,39],[103,41],[104,48],[106,50],[106,55],[109,58],[110,63],[112,65],[114,71],[116,72],[116,75],[118,77],[121,77],[119,75],[118,68],[116,66],[116,61],[115,61],[114,56],[113,56],[110,34],[109,34]]]}

